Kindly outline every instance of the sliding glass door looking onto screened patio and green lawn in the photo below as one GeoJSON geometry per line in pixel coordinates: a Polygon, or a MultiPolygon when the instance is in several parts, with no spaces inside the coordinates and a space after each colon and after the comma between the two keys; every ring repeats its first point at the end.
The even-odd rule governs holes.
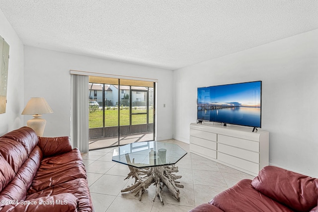
{"type": "Polygon", "coordinates": [[[110,79],[89,77],[89,149],[153,141],[155,83],[110,79]]]}

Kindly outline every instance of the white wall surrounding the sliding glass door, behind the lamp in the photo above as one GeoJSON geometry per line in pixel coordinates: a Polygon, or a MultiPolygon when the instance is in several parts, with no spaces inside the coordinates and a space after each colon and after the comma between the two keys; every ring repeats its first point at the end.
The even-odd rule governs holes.
{"type": "MultiPolygon", "coordinates": [[[[156,112],[160,118],[157,122],[157,140],[172,139],[172,71],[30,46],[24,48],[24,64],[24,101],[27,102],[30,97],[44,97],[54,111],[43,115],[47,120],[43,136],[70,136],[70,70],[77,70],[158,79],[156,112]]],[[[24,123],[31,118],[26,116],[24,123]]]]}

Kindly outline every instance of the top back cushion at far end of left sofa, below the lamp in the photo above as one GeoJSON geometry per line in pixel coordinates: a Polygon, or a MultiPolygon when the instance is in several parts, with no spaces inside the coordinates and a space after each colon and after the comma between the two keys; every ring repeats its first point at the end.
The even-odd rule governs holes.
{"type": "Polygon", "coordinates": [[[18,130],[14,130],[3,135],[1,138],[19,141],[24,146],[27,155],[29,155],[38,144],[38,136],[29,127],[21,127],[18,130]]]}

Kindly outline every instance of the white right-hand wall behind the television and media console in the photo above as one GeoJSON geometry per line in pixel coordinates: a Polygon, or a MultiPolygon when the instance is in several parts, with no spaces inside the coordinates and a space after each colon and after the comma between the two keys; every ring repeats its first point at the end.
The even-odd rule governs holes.
{"type": "Polygon", "coordinates": [[[270,164],[318,176],[318,30],[173,72],[174,138],[189,142],[197,87],[262,80],[270,164]]]}

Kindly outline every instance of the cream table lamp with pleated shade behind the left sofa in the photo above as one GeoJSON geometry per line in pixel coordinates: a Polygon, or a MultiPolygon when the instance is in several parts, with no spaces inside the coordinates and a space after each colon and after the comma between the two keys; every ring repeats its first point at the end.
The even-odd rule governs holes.
{"type": "Polygon", "coordinates": [[[22,115],[32,115],[34,118],[27,121],[26,125],[32,128],[37,136],[42,137],[46,125],[46,120],[41,119],[42,115],[53,113],[53,110],[43,97],[32,97],[26,104],[22,115]]]}

